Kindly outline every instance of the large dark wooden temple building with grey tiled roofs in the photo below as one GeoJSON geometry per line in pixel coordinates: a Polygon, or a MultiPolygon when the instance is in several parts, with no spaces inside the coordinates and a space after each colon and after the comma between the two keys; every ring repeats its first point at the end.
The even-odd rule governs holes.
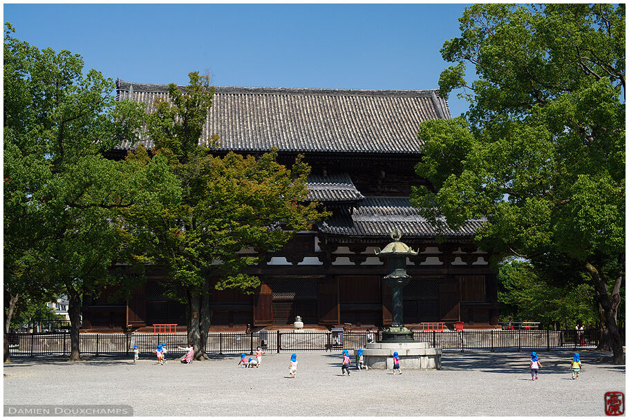
{"type": "MultiPolygon", "coordinates": [[[[117,87],[119,100],[144,102],[149,112],[167,88],[122,80],[117,87]]],[[[217,87],[200,141],[218,135],[217,155],[258,156],[274,146],[286,165],[303,155],[312,167],[309,199],[332,216],[248,267],[261,279],[254,295],[212,289],[212,325],[280,326],[298,315],[306,325],[390,324],[391,289],[382,283],[386,267],[375,249],[391,242],[395,228],[418,251],[407,261],[412,280],[404,287],[406,325],[497,325],[496,272],[487,251],[472,240],[482,220],[447,231],[438,242],[409,201],[411,186],[427,184],[414,171],[422,149],[419,125],[449,117],[438,90],[217,87]]],[[[151,149],[151,140],[144,143],[151,149]]],[[[123,158],[135,146],[122,144],[110,157],[123,158]]],[[[183,305],[162,296],[160,283],[167,280],[155,271],[117,305],[106,296],[86,298],[84,329],[185,325],[183,305]]]]}

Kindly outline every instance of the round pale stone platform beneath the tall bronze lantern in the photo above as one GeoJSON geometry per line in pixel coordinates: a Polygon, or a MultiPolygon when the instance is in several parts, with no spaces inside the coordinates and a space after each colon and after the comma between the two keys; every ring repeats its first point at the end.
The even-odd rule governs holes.
{"type": "Polygon", "coordinates": [[[442,350],[420,342],[368,343],[363,349],[365,364],[371,369],[393,369],[393,352],[400,356],[400,369],[441,369],[442,350]]]}

